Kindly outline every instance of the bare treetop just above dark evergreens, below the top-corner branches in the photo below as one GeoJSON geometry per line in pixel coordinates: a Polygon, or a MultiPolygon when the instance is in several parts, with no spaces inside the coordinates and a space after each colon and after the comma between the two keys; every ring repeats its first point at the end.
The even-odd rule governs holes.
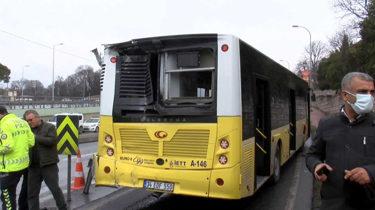
{"type": "Polygon", "coordinates": [[[348,45],[352,45],[356,41],[356,35],[350,28],[338,30],[331,36],[327,36],[327,38],[330,52],[341,51],[344,41],[347,42],[348,45]]]}

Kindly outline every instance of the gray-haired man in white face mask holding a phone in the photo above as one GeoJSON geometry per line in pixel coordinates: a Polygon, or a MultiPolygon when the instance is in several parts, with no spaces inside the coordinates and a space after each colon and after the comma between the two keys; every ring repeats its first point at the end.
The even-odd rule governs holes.
{"type": "Polygon", "coordinates": [[[321,210],[375,209],[374,80],[351,72],[341,87],[344,105],[319,121],[306,166],[323,182],[321,210]]]}

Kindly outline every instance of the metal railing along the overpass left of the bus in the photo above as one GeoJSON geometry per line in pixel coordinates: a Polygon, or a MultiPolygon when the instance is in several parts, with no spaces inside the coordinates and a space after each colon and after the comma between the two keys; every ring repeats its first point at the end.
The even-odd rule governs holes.
{"type": "Polygon", "coordinates": [[[100,106],[100,98],[0,96],[0,105],[7,109],[68,108],[100,106]]]}

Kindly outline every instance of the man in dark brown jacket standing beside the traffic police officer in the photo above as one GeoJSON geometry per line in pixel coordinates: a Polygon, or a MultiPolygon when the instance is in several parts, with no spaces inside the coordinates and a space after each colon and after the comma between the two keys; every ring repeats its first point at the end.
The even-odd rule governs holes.
{"type": "Polygon", "coordinates": [[[56,127],[40,120],[38,112],[28,110],[25,119],[34,133],[35,146],[30,151],[31,164],[28,170],[28,208],[39,210],[39,192],[42,181],[46,183],[59,210],[66,210],[64,194],[58,185],[58,152],[56,127]]]}

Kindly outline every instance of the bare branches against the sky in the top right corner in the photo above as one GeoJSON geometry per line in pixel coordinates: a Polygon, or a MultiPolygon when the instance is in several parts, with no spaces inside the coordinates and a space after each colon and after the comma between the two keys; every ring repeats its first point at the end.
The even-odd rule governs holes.
{"type": "Polygon", "coordinates": [[[360,21],[365,19],[369,14],[369,4],[371,0],[332,0],[331,5],[337,13],[343,12],[340,21],[348,21],[347,25],[357,31],[360,28],[360,21]]]}

